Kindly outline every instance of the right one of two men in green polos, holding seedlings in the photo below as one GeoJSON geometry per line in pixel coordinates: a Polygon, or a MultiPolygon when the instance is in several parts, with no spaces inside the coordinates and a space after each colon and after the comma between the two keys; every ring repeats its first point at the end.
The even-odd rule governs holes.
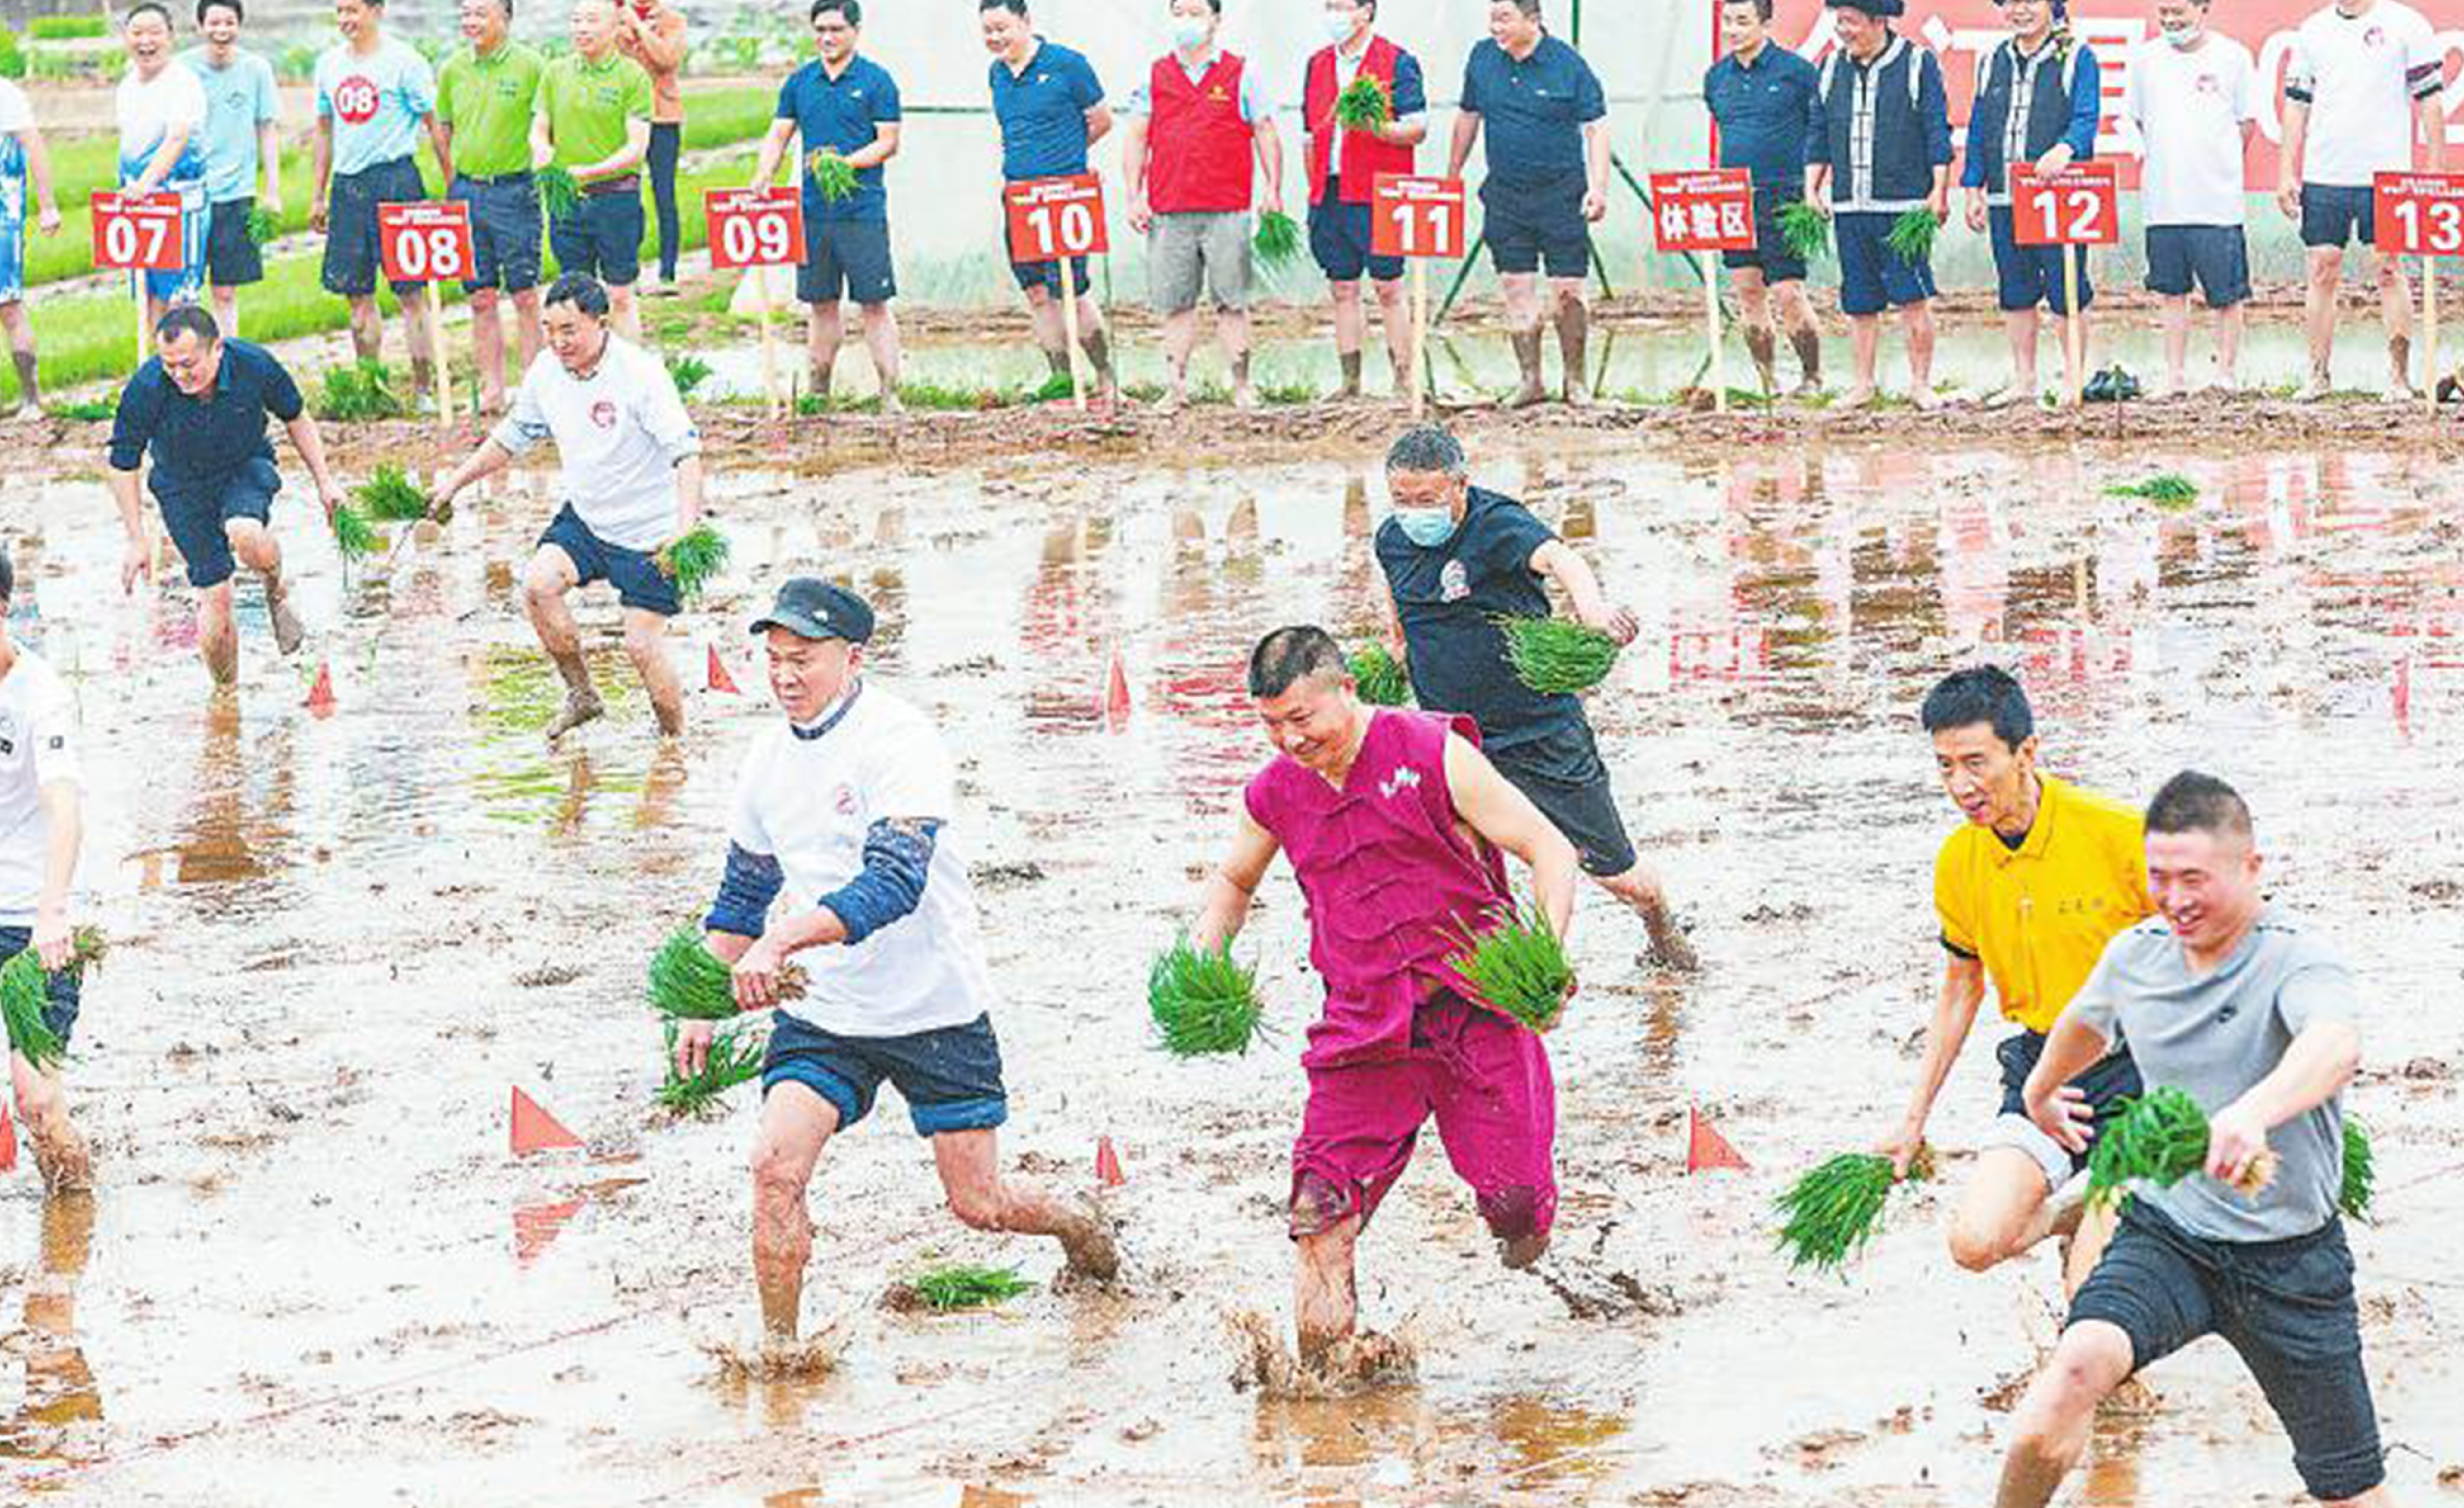
{"type": "Polygon", "coordinates": [[[641,160],[650,150],[650,74],[616,52],[616,7],[574,0],[574,52],[547,64],[530,126],[530,165],[554,163],[582,185],[582,205],[547,224],[562,271],[606,283],[616,328],[641,340],[641,160]]]}

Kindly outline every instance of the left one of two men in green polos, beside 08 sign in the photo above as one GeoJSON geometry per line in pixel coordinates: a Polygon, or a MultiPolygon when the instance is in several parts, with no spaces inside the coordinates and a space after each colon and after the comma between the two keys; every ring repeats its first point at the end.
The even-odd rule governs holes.
{"type": "Polygon", "coordinates": [[[498,291],[513,298],[520,370],[540,355],[540,190],[530,177],[530,118],[547,64],[513,39],[513,0],[463,0],[463,39],[436,79],[436,118],[453,143],[451,200],[471,205],[471,347],[478,404],[505,409],[505,325],[498,291]]]}

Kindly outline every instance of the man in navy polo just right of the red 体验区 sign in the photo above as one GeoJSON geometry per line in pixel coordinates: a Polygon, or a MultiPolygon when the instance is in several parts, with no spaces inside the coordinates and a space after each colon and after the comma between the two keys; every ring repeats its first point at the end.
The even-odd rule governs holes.
{"type": "Polygon", "coordinates": [[[1745,313],[1745,347],[1754,355],[1762,392],[1779,387],[1772,365],[1777,296],[1796,350],[1796,394],[1823,387],[1823,333],[1806,303],[1806,259],[1789,251],[1779,207],[1806,197],[1806,136],[1814,128],[1814,64],[1772,42],[1772,0],[1720,0],[1727,57],[1703,74],[1703,103],[1720,126],[1720,165],[1754,175],[1754,249],[1722,251],[1745,313]]]}

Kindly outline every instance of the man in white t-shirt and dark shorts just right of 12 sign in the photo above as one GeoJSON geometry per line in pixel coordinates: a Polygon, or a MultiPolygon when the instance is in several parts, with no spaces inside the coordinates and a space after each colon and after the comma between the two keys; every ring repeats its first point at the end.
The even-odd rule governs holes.
{"type": "Polygon", "coordinates": [[[2122,113],[2139,126],[2149,227],[2149,291],[2163,298],[2163,392],[2188,387],[2190,286],[2215,310],[2215,367],[2235,387],[2250,244],[2242,158],[2257,128],[2250,49],[2208,30],[2208,0],[2156,0],[2156,34],[2139,44],[2122,113]]]}

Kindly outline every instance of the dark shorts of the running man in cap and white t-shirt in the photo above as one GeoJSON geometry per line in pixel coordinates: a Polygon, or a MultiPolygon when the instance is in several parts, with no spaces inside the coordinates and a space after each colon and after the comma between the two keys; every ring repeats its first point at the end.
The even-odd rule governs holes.
{"type": "Polygon", "coordinates": [[[840,1037],[779,1010],[761,1060],[761,1094],[788,1079],[828,1099],[840,1131],[872,1114],[882,1079],[907,1101],[917,1136],[991,1131],[1010,1119],[1000,1040],[988,1015],[904,1037],[840,1037]]]}

